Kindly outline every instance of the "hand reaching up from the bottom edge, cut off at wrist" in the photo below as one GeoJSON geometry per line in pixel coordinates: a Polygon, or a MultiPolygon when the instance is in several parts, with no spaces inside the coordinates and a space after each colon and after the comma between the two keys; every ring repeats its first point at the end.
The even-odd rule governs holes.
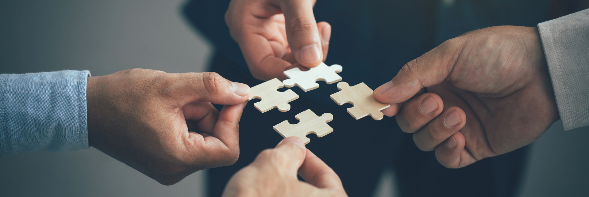
{"type": "Polygon", "coordinates": [[[262,151],[231,179],[223,196],[348,196],[339,176],[297,137],[262,151]],[[297,171],[306,182],[297,179],[297,171]]]}

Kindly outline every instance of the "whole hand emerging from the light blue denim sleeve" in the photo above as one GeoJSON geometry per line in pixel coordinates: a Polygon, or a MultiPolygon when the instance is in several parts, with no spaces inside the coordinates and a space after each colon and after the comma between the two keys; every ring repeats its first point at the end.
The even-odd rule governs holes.
{"type": "Polygon", "coordinates": [[[214,72],[131,69],[88,78],[91,146],[164,185],[239,157],[249,86],[214,72]],[[225,105],[221,112],[210,102],[225,105]]]}

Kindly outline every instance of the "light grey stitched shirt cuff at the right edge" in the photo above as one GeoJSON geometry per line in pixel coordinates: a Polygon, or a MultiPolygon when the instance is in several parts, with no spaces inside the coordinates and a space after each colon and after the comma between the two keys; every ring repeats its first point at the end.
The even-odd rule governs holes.
{"type": "Polygon", "coordinates": [[[538,24],[564,130],[589,125],[589,9],[538,24]]]}

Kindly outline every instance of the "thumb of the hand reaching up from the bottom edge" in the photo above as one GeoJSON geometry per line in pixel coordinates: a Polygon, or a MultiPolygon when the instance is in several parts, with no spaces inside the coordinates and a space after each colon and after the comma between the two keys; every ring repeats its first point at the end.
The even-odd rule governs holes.
{"type": "Polygon", "coordinates": [[[281,175],[297,179],[297,171],[305,161],[306,148],[298,137],[284,138],[276,148],[266,149],[257,156],[254,165],[260,169],[272,169],[281,175]]]}

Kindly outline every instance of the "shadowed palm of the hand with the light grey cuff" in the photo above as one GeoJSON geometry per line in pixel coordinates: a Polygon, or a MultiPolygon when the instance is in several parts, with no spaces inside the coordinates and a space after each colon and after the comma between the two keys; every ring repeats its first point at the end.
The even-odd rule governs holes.
{"type": "Polygon", "coordinates": [[[558,119],[555,108],[539,107],[554,102],[544,58],[534,55],[542,49],[504,37],[464,42],[448,79],[426,88],[444,109],[458,106],[466,114],[459,167],[528,145],[558,119]]]}

